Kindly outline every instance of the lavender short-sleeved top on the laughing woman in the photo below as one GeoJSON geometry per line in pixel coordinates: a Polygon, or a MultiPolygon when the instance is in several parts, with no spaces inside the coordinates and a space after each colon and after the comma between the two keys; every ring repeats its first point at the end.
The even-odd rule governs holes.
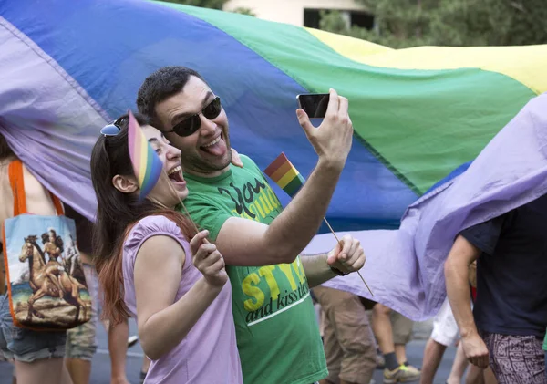
{"type": "MultiPolygon", "coordinates": [[[[129,233],[123,247],[125,303],[137,318],[133,269],[140,246],[151,236],[166,235],[175,239],[186,254],[181,284],[175,301],[186,294],[201,273],[192,264],[190,244],[177,224],[165,216],[148,216],[129,233]]],[[[160,287],[159,287],[160,289],[160,287]]],[[[237,351],[232,317],[232,287],[226,283],[221,293],[203,313],[181,343],[162,358],[152,361],[146,384],[242,384],[242,370],[237,351]]]]}

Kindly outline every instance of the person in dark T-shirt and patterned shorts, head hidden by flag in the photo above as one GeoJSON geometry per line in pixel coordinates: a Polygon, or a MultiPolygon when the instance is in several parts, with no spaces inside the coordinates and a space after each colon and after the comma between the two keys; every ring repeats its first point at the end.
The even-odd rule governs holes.
{"type": "Polygon", "coordinates": [[[547,194],[461,231],[445,262],[462,348],[500,384],[544,384],[547,194]],[[471,312],[470,265],[477,260],[471,312]]]}

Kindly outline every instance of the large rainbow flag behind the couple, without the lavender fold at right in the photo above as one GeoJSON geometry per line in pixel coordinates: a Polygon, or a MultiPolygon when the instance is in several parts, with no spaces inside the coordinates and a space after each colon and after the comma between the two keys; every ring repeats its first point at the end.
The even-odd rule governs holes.
{"type": "Polygon", "coordinates": [[[316,155],[295,96],[346,96],[356,140],[326,215],[337,231],[396,229],[547,90],[547,45],[394,50],[160,2],[0,0],[0,132],[46,187],[93,218],[99,130],[135,109],[142,80],[168,65],[197,69],[222,97],[236,150],[261,169],[284,151],[304,178],[316,155]]]}

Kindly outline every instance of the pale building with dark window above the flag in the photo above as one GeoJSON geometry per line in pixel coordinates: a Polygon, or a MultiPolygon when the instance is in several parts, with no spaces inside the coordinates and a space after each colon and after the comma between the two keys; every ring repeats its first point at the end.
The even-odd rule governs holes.
{"type": "Polygon", "coordinates": [[[229,0],[225,11],[246,8],[256,17],[294,26],[319,27],[321,10],[339,11],[347,26],[372,28],[374,16],[355,0],[229,0]]]}

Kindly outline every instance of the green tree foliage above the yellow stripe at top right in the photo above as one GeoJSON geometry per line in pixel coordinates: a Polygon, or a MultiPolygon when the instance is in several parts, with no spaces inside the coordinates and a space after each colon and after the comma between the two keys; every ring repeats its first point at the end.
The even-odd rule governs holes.
{"type": "Polygon", "coordinates": [[[521,46],[547,43],[545,0],[357,0],[375,15],[373,30],[348,28],[323,13],[327,31],[387,47],[521,46]]]}

